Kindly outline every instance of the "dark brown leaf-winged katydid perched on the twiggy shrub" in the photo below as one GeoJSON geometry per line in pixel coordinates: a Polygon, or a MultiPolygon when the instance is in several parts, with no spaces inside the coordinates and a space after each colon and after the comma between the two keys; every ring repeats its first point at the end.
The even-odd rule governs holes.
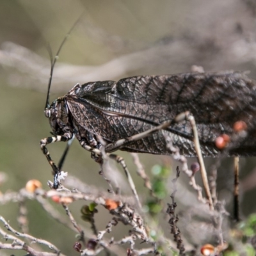
{"type": "Polygon", "coordinates": [[[248,136],[236,141],[227,154],[256,155],[256,83],[241,72],[134,76],[117,82],[76,84],[50,105],[55,61],[52,61],[45,105],[45,116],[49,118],[53,136],[40,141],[42,152],[54,172],[53,188],[59,186],[60,170],[46,145],[69,141],[73,136],[97,161],[102,146],[97,135],[106,141],[106,152],[120,149],[171,155],[166,147],[166,136],[169,136],[181,154],[195,156],[191,125],[187,120],[173,121],[184,111],[195,117],[203,156],[218,156],[216,138],[220,134],[232,134],[232,127],[239,120],[247,124],[248,136]],[[161,124],[167,125],[152,132],[161,124]]]}

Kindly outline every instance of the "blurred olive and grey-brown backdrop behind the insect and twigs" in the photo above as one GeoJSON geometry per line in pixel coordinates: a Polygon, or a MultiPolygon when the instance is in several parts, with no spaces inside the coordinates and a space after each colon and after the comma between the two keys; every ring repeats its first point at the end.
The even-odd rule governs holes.
{"type": "MultiPolygon", "coordinates": [[[[56,52],[82,12],[84,15],[56,65],[51,100],[67,93],[76,83],[189,72],[191,65],[202,65],[206,71],[250,70],[250,77],[256,77],[253,1],[1,1],[0,171],[8,175],[8,181],[1,185],[3,192],[18,191],[29,179],[40,180],[46,189],[47,180],[51,179],[51,169],[39,147],[40,139],[49,136],[50,131],[44,117],[50,70],[45,45],[49,43],[56,52]]],[[[53,159],[58,161],[64,147],[64,143],[49,146],[53,159]]],[[[132,170],[131,156],[120,154],[132,170]]],[[[162,159],[141,156],[147,170],[162,159]]],[[[208,166],[212,161],[207,160],[208,166]]],[[[242,178],[252,171],[253,165],[255,159],[241,159],[242,178]]],[[[107,188],[98,175],[99,166],[77,141],[72,145],[65,170],[88,184],[107,188]]],[[[228,200],[232,189],[230,161],[220,164],[218,174],[220,195],[228,200]]],[[[136,175],[134,179],[141,188],[141,180],[136,175]]],[[[248,182],[244,184],[244,189],[249,188],[248,182]]],[[[243,195],[244,216],[255,211],[253,192],[251,189],[243,195]]],[[[180,197],[186,196],[184,191],[181,194],[180,197]]],[[[73,209],[77,217],[79,207],[75,204],[73,209]]],[[[36,202],[28,202],[28,209],[31,234],[49,239],[67,255],[74,252],[74,234],[51,220],[36,202]]],[[[0,208],[0,214],[14,227],[17,211],[15,204],[0,208]]],[[[98,221],[104,228],[110,216],[104,209],[102,212],[104,218],[98,221]]]]}

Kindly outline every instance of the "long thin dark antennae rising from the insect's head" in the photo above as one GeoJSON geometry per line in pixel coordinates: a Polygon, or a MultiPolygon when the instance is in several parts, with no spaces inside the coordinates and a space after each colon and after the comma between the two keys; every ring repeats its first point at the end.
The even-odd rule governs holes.
{"type": "Polygon", "coordinates": [[[56,53],[54,58],[52,56],[51,47],[49,47],[49,45],[47,45],[47,51],[49,52],[49,56],[50,56],[50,60],[51,60],[51,72],[50,72],[50,77],[49,77],[49,82],[48,82],[48,89],[47,89],[47,97],[46,97],[45,109],[49,109],[49,95],[50,95],[50,89],[51,89],[52,74],[53,74],[54,65],[55,65],[56,61],[58,60],[58,58],[59,58],[59,54],[60,54],[60,51],[61,51],[63,45],[65,44],[65,42],[67,41],[68,37],[70,36],[70,33],[76,27],[77,23],[79,22],[79,20],[81,19],[81,17],[83,15],[84,15],[84,12],[81,13],[79,18],[76,20],[76,22],[72,26],[72,28],[70,28],[70,30],[68,31],[67,35],[65,35],[65,38],[62,40],[61,45],[60,45],[60,47],[59,47],[59,49],[58,49],[58,51],[57,51],[57,53],[56,53]]]}

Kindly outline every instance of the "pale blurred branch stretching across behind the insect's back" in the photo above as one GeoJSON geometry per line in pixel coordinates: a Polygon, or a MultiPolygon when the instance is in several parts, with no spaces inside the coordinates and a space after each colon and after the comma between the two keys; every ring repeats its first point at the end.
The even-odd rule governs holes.
{"type": "MultiPolygon", "coordinates": [[[[241,25],[242,26],[242,25],[241,25]]],[[[255,39],[248,40],[246,31],[237,33],[235,29],[228,31],[230,34],[218,37],[212,36],[212,42],[204,35],[190,33],[189,36],[180,36],[172,40],[159,40],[147,49],[130,54],[124,54],[97,67],[78,66],[58,63],[54,68],[54,86],[52,92],[68,92],[76,83],[118,79],[134,73],[137,70],[163,70],[188,71],[191,65],[198,63],[208,70],[221,70],[234,65],[256,63],[255,39]],[[225,44],[227,42],[227,44],[225,44]],[[218,45],[214,48],[214,45],[218,45]],[[205,54],[205,49],[214,51],[214,54],[205,54]],[[228,47],[227,47],[228,45],[228,47]],[[214,49],[211,49],[213,47],[214,49]],[[225,52],[225,54],[224,54],[225,52]],[[225,64],[223,63],[225,56],[225,64]],[[168,61],[167,61],[168,60],[168,61]]],[[[196,31],[199,33],[198,31],[196,31]]],[[[202,32],[203,33],[203,32],[202,32]]],[[[249,35],[249,34],[248,34],[249,35]]],[[[6,68],[10,83],[13,86],[22,86],[36,90],[44,90],[39,84],[47,84],[49,77],[49,60],[38,56],[34,52],[12,42],[5,42],[0,50],[0,65],[6,68]],[[26,60],[26,61],[24,61],[26,60]],[[8,72],[8,68],[12,73],[8,72]],[[20,74],[13,72],[15,68],[20,74]]],[[[162,70],[162,72],[161,72],[162,70]]]]}

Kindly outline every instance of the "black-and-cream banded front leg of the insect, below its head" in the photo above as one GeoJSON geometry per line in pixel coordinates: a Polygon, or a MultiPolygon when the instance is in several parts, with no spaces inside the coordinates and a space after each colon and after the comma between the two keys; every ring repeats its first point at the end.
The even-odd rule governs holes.
{"type": "Polygon", "coordinates": [[[41,150],[42,150],[43,154],[45,155],[45,157],[47,158],[47,161],[49,162],[49,164],[52,167],[52,171],[53,171],[53,175],[54,175],[52,188],[54,188],[54,189],[57,189],[58,186],[60,185],[60,182],[58,181],[58,175],[60,175],[60,170],[56,166],[56,164],[52,161],[49,151],[46,148],[46,145],[50,144],[50,143],[54,143],[56,141],[68,141],[72,138],[72,136],[73,136],[72,133],[66,133],[64,135],[47,137],[40,141],[41,150]]]}

